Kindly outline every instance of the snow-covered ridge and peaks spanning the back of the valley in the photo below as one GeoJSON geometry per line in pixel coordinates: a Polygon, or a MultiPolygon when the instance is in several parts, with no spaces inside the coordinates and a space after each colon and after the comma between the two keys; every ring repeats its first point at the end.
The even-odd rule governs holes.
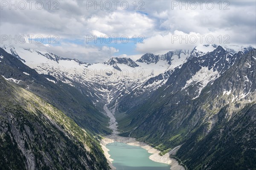
{"type": "MultiPolygon", "coordinates": [[[[252,49],[251,46],[247,48],[234,47],[241,49],[241,54],[252,49]]],[[[163,55],[147,53],[136,62],[130,58],[112,57],[103,63],[90,64],[77,59],[58,57],[50,52],[36,49],[12,45],[4,45],[3,49],[30,68],[34,68],[39,74],[50,75],[58,81],[78,88],[79,85],[86,87],[94,102],[104,98],[107,89],[111,90],[110,98],[115,96],[116,99],[134,90],[137,91],[135,95],[153,91],[162,85],[171,83],[170,77],[175,78],[172,74],[175,71],[179,72],[183,66],[186,67],[188,64],[194,69],[192,72],[197,72],[201,68],[208,69],[214,76],[209,79],[212,81],[217,74],[224,73],[241,56],[240,53],[230,54],[231,48],[200,45],[192,51],[174,50],[163,55]],[[186,64],[184,65],[184,63],[186,64]]],[[[48,80],[51,81],[51,79],[48,80]]],[[[200,89],[205,85],[207,83],[200,86],[200,89]]],[[[110,92],[108,91],[108,93],[110,92]]],[[[197,95],[195,94],[195,96],[197,95]]]]}

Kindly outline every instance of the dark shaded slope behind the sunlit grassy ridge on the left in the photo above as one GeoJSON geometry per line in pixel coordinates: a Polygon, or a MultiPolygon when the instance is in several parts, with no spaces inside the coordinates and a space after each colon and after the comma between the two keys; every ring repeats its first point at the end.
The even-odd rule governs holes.
{"type": "Polygon", "coordinates": [[[108,118],[96,108],[87,93],[55,79],[38,74],[0,48],[0,74],[24,89],[42,97],[75,122],[93,133],[109,133],[108,118]]]}

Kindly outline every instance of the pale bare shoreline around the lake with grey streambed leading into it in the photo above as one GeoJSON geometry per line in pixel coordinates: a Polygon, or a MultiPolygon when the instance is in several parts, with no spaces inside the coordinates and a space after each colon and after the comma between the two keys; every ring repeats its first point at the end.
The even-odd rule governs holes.
{"type": "Polygon", "coordinates": [[[114,167],[112,164],[113,159],[110,158],[111,155],[108,153],[109,150],[106,146],[113,142],[121,142],[124,144],[140,146],[143,149],[147,150],[148,153],[152,153],[152,155],[149,156],[149,159],[151,159],[152,161],[169,164],[171,165],[171,170],[185,170],[185,168],[179,165],[175,159],[170,158],[170,153],[166,153],[165,155],[160,156],[159,155],[160,150],[157,150],[144,142],[137,141],[135,138],[131,138],[131,137],[119,136],[117,131],[117,122],[114,116],[115,109],[110,111],[107,105],[105,105],[104,110],[107,116],[110,118],[109,128],[113,130],[113,133],[112,135],[105,136],[105,138],[102,139],[101,146],[102,146],[102,150],[104,151],[105,157],[107,158],[108,163],[112,170],[116,170],[116,167],[114,167]]]}

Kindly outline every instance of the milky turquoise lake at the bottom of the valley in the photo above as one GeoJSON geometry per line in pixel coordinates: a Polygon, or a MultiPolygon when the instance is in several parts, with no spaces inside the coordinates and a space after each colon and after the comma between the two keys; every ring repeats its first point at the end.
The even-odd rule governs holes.
{"type": "Polygon", "coordinates": [[[113,142],[106,146],[113,159],[116,170],[170,170],[170,165],[154,162],[149,159],[152,155],[139,146],[125,145],[113,142]]]}

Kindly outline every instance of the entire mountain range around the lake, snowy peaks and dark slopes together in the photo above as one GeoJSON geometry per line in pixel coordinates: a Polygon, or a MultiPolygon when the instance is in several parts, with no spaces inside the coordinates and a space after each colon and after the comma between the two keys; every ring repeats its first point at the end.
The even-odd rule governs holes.
{"type": "MultiPolygon", "coordinates": [[[[42,150],[42,146],[35,144],[35,138],[31,140],[25,126],[25,132],[21,130],[23,125],[17,119],[26,112],[27,117],[23,119],[37,134],[39,127],[35,121],[42,126],[47,124],[46,131],[62,132],[62,140],[73,142],[70,146],[79,147],[81,153],[93,150],[89,144],[79,145],[84,141],[76,136],[68,137],[73,134],[72,130],[61,121],[67,119],[79,131],[75,134],[79,134],[82,127],[90,136],[86,140],[96,146],[84,157],[75,158],[76,162],[81,163],[78,160],[84,158],[82,164],[90,169],[108,169],[98,146],[100,136],[111,133],[103,109],[106,105],[115,112],[121,136],[150,142],[165,152],[178,147],[175,157],[188,169],[255,169],[255,67],[256,49],[252,46],[199,45],[163,55],[144,54],[137,61],[113,57],[103,63],[87,63],[47,51],[3,45],[0,48],[1,87],[4,87],[1,97],[9,102],[1,107],[5,126],[0,132],[8,134],[2,137],[1,146],[5,146],[3,150],[14,148],[13,153],[19,153],[20,160],[26,160],[16,160],[23,167],[35,166],[31,162],[37,164],[37,157],[31,159],[29,154],[35,157],[39,153],[32,153],[32,146],[38,150],[42,150]],[[39,102],[40,107],[38,100],[44,101],[39,102]],[[31,110],[27,108],[29,103],[32,103],[31,110]],[[58,110],[63,118],[54,120],[60,116],[55,115],[56,112],[45,113],[45,105],[58,110]],[[17,114],[10,116],[13,112],[17,114]],[[39,116],[39,119],[41,114],[46,118],[39,116]],[[12,121],[17,124],[15,131],[9,127],[12,121]],[[20,140],[20,136],[24,139],[20,140]],[[7,140],[12,141],[12,146],[6,145],[7,140]],[[27,142],[29,147],[24,149],[17,141],[27,142]],[[90,167],[89,160],[96,160],[97,164],[90,167]]],[[[44,134],[40,135],[43,138],[44,134]]],[[[55,150],[58,154],[59,148],[55,150]]],[[[63,159],[69,159],[70,154],[63,159]]],[[[44,160],[49,158],[47,151],[39,155],[44,160]]],[[[53,166],[52,162],[40,162],[38,166],[53,166]]],[[[82,169],[81,164],[76,166],[82,169]]]]}

